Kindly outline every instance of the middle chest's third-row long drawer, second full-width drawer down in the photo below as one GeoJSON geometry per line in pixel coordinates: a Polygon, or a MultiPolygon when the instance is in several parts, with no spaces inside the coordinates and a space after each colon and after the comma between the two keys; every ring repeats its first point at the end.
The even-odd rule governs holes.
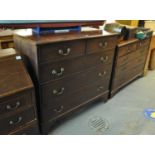
{"type": "MultiPolygon", "coordinates": [[[[111,66],[110,66],[111,68],[111,66]]],[[[70,98],[70,96],[84,86],[89,86],[93,83],[103,83],[109,85],[111,69],[107,67],[93,68],[87,72],[75,74],[62,80],[57,80],[42,86],[42,103],[50,105],[51,101],[57,103],[64,101],[64,98],[70,98]]],[[[107,86],[106,85],[106,86],[107,86]]],[[[108,89],[106,87],[106,89],[108,89]]]]}

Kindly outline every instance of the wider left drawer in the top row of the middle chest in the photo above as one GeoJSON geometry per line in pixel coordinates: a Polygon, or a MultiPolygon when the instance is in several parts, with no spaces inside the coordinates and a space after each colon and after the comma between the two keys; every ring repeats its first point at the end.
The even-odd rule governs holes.
{"type": "Polygon", "coordinates": [[[85,41],[70,41],[39,46],[39,62],[56,61],[85,54],[85,41]]]}

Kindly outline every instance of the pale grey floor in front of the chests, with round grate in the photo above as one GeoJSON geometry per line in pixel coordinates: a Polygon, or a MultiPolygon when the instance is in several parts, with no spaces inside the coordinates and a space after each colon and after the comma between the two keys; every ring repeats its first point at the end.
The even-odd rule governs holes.
{"type": "Polygon", "coordinates": [[[155,121],[144,115],[155,109],[155,71],[140,78],[106,104],[94,103],[88,109],[59,123],[52,135],[140,135],[155,134],[155,121]]]}

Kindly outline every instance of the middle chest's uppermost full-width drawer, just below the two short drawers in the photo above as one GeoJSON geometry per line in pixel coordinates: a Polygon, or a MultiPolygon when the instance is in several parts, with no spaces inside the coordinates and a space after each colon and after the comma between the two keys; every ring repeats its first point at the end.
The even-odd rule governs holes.
{"type": "Polygon", "coordinates": [[[40,66],[41,83],[61,79],[74,73],[82,72],[93,66],[111,64],[114,51],[91,54],[59,63],[47,63],[40,66]]]}

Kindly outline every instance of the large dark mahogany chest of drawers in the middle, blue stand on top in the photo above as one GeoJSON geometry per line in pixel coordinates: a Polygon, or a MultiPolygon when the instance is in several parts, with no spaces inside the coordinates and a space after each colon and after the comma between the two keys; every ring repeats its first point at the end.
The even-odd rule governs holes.
{"type": "Polygon", "coordinates": [[[116,34],[16,35],[14,42],[38,89],[43,134],[87,103],[107,100],[116,34]]]}

